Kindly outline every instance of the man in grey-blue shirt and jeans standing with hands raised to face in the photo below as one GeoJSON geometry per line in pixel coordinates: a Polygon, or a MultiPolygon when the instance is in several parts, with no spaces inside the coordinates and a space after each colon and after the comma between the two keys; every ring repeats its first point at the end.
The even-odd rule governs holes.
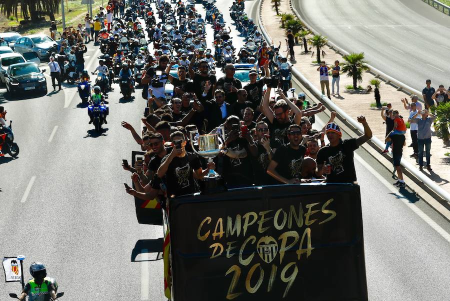
{"type": "Polygon", "coordinates": [[[435,118],[436,116],[430,114],[427,110],[418,110],[411,119],[411,122],[417,123],[417,142],[420,170],[423,168],[423,146],[425,146],[426,168],[431,171],[431,125],[433,124],[435,118]],[[421,115],[421,118],[416,118],[419,114],[421,115]]]}

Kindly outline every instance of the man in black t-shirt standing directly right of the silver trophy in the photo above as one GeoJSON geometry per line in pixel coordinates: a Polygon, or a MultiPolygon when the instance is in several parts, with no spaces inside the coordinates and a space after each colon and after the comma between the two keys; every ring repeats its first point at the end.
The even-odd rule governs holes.
{"type": "Polygon", "coordinates": [[[239,118],[229,116],[225,121],[226,139],[222,145],[223,171],[222,176],[228,188],[244,187],[253,184],[253,171],[251,169],[251,155],[257,155],[250,132],[244,136],[239,130],[239,118]]]}

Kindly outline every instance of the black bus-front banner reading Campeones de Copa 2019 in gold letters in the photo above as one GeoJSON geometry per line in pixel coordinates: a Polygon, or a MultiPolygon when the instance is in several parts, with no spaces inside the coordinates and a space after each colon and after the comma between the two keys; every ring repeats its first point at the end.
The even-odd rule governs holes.
{"type": "Polygon", "coordinates": [[[169,205],[176,301],[367,300],[357,185],[241,188],[169,205]]]}

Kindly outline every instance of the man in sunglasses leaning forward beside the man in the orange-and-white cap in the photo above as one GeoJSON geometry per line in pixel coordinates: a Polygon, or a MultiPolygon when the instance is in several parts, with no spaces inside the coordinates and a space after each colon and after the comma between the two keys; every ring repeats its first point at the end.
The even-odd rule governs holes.
{"type": "Polygon", "coordinates": [[[276,150],[267,166],[267,173],[281,183],[296,184],[302,182],[301,163],[306,152],[306,148],[300,145],[302,140],[300,126],[291,124],[288,127],[287,138],[289,143],[276,150]]]}

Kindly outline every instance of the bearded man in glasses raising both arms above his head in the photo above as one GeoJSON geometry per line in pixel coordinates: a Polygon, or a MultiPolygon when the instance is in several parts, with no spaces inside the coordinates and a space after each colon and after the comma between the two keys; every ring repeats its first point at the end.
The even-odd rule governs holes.
{"type": "Polygon", "coordinates": [[[270,139],[278,139],[281,144],[286,144],[289,142],[287,138],[287,129],[291,124],[300,124],[301,111],[283,94],[281,89],[276,91],[281,99],[276,101],[272,111],[268,103],[270,90],[271,88],[267,87],[264,97],[262,97],[262,112],[270,123],[268,124],[270,128],[270,139]],[[293,119],[289,116],[289,107],[295,114],[293,119]]]}

